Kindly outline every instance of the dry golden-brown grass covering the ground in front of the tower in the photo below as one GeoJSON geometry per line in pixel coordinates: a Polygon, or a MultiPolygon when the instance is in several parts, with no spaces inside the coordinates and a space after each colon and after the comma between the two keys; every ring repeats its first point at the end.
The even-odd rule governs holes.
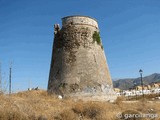
{"type": "Polygon", "coordinates": [[[43,90],[0,95],[0,120],[119,120],[118,113],[160,115],[160,102],[125,98],[118,98],[115,103],[60,100],[43,90]]]}

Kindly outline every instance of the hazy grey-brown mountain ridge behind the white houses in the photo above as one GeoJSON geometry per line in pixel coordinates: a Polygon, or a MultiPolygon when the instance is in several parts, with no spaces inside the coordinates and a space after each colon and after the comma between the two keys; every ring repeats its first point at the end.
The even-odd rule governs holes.
{"type": "MultiPolygon", "coordinates": [[[[154,73],[149,76],[143,77],[143,84],[148,85],[153,82],[160,82],[160,73],[154,73]]],[[[122,90],[126,90],[129,88],[133,88],[134,86],[141,85],[141,78],[125,78],[113,81],[114,88],[120,88],[122,90]]]]}

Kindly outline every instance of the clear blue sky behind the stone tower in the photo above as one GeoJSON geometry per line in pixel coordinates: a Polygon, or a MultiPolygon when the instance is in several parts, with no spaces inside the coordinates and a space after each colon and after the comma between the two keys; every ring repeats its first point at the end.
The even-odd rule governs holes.
{"type": "Polygon", "coordinates": [[[159,0],[0,0],[0,63],[3,88],[47,89],[53,25],[70,15],[98,21],[111,77],[160,73],[159,0]]]}

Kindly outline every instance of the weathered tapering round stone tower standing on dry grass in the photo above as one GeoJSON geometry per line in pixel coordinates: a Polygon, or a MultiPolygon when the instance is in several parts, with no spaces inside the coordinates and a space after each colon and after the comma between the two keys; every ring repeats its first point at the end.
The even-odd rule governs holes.
{"type": "Polygon", "coordinates": [[[80,99],[115,99],[97,21],[67,16],[62,18],[62,28],[55,24],[54,29],[48,92],[80,99]]]}

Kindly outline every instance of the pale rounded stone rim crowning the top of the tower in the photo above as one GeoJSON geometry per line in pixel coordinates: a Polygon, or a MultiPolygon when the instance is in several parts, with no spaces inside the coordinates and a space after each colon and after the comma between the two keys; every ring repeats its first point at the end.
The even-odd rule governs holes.
{"type": "Polygon", "coordinates": [[[67,16],[62,18],[62,26],[70,26],[70,25],[87,25],[92,26],[98,29],[98,23],[96,19],[88,17],[88,16],[67,16]]]}

